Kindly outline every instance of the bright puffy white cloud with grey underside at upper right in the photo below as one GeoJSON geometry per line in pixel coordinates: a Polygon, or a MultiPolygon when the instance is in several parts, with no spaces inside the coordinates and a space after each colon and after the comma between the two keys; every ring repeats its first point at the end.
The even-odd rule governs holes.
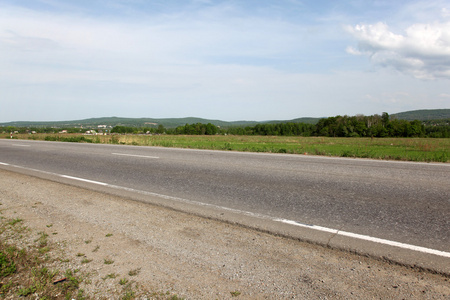
{"type": "Polygon", "coordinates": [[[385,23],[347,27],[358,41],[353,55],[365,54],[383,67],[392,67],[420,79],[450,79],[450,22],[414,24],[404,34],[390,31],[385,23]]]}

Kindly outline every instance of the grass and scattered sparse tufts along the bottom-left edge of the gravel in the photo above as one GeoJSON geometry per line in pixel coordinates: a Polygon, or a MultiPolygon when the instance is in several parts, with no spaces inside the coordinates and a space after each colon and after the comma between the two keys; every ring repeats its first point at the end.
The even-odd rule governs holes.
{"type": "MultiPolygon", "coordinates": [[[[51,255],[51,252],[58,252],[61,246],[49,241],[49,236],[44,232],[38,232],[37,238],[33,237],[36,233],[23,223],[19,218],[3,217],[0,210],[0,299],[97,299],[97,292],[91,297],[83,289],[83,285],[92,284],[92,275],[76,268],[64,270],[58,262],[70,263],[70,260],[51,255]]],[[[78,253],[76,256],[84,257],[84,254],[78,253]]],[[[84,258],[81,263],[91,261],[84,258]]],[[[101,279],[104,281],[118,276],[110,273],[101,279]]],[[[147,296],[151,299],[181,299],[169,292],[145,291],[126,277],[117,285],[120,287],[119,295],[111,295],[114,299],[141,299],[147,296]]]]}

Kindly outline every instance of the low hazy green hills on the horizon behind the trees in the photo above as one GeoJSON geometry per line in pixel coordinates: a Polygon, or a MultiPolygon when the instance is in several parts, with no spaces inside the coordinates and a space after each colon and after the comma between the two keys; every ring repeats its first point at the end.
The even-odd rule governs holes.
{"type": "MultiPolygon", "coordinates": [[[[400,120],[419,120],[419,121],[429,121],[429,120],[442,120],[450,119],[450,109],[430,109],[430,110],[415,110],[401,112],[397,114],[392,114],[391,117],[395,117],[400,120]]],[[[57,127],[57,128],[68,128],[68,127],[97,127],[98,125],[107,126],[131,126],[131,127],[158,127],[163,125],[166,128],[175,128],[178,126],[183,126],[185,124],[214,124],[223,128],[233,127],[233,126],[254,126],[256,124],[276,124],[276,123],[307,123],[316,124],[320,118],[298,118],[292,120],[272,120],[272,121],[221,121],[221,120],[209,120],[202,118],[166,118],[166,119],[154,119],[154,118],[120,118],[120,117],[105,117],[105,118],[91,118],[85,120],[74,120],[74,121],[49,121],[49,122],[35,122],[35,121],[17,121],[17,122],[7,122],[0,123],[0,126],[14,126],[14,127],[57,127]]]]}

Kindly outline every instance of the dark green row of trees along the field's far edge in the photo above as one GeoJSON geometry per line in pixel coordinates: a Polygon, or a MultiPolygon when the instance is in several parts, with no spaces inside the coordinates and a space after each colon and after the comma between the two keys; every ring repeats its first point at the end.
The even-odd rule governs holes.
{"type": "MultiPolygon", "coordinates": [[[[56,133],[54,128],[3,127],[5,132],[56,133]]],[[[81,128],[66,128],[68,133],[84,132],[81,128]]],[[[175,128],[163,125],[135,127],[114,126],[103,133],[116,134],[180,134],[180,135],[273,135],[273,136],[326,136],[326,137],[433,137],[450,138],[450,119],[408,121],[390,117],[388,113],[372,116],[335,116],[309,123],[263,123],[252,126],[220,127],[212,123],[185,124],[175,128]]]]}

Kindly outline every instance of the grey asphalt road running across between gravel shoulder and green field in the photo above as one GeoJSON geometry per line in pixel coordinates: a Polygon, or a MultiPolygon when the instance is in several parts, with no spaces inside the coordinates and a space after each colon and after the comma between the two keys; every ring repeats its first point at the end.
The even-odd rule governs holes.
{"type": "Polygon", "coordinates": [[[205,203],[237,213],[232,222],[267,218],[450,250],[448,164],[0,140],[0,167],[205,203]]]}

